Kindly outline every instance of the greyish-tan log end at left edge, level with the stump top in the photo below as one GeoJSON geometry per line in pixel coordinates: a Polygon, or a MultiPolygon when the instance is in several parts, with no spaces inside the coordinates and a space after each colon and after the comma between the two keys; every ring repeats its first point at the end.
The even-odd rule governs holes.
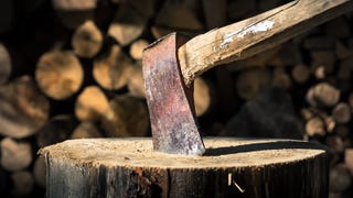
{"type": "Polygon", "coordinates": [[[1,140],[1,166],[9,172],[26,168],[33,160],[29,142],[17,142],[11,138],[1,140]]]}

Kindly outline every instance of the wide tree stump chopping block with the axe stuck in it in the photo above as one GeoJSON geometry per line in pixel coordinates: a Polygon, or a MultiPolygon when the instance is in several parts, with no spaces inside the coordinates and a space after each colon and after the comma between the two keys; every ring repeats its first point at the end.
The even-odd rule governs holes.
{"type": "Polygon", "coordinates": [[[150,139],[44,147],[46,196],[328,197],[324,147],[290,140],[204,139],[204,156],[154,152],[150,139]]]}

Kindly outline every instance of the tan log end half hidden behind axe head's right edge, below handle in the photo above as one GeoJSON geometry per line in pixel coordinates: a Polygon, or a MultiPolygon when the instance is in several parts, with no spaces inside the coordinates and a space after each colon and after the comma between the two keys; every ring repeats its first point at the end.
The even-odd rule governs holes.
{"type": "Polygon", "coordinates": [[[205,114],[211,108],[211,86],[201,77],[194,80],[194,105],[197,117],[205,114]]]}

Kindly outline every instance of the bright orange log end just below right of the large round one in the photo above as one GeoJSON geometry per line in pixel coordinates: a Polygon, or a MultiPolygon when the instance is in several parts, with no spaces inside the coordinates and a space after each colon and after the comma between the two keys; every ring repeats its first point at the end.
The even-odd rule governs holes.
{"type": "Polygon", "coordinates": [[[81,121],[98,122],[108,109],[108,99],[97,86],[85,87],[75,102],[75,116],[81,121]]]}

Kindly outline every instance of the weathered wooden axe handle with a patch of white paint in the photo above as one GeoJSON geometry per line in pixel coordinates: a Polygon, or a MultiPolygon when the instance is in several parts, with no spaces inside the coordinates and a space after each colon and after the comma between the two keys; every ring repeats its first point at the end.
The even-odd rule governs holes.
{"type": "Polygon", "coordinates": [[[353,0],[296,0],[193,37],[178,50],[186,86],[210,68],[247,58],[353,9],[353,0]]]}

